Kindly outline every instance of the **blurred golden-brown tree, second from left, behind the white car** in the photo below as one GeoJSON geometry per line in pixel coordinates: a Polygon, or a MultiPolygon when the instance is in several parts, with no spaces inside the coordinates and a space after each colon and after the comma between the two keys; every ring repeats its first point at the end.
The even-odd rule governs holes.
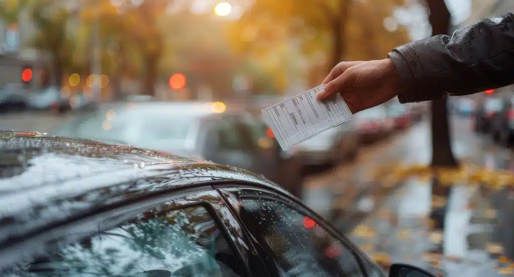
{"type": "MultiPolygon", "coordinates": [[[[82,11],[82,51],[90,52],[94,23],[99,22],[102,72],[111,76],[116,98],[123,77],[140,77],[141,94],[154,95],[164,51],[161,20],[172,0],[89,0],[82,11]]],[[[85,57],[90,57],[90,53],[85,57]]],[[[87,62],[87,61],[86,61],[87,62]]]]}

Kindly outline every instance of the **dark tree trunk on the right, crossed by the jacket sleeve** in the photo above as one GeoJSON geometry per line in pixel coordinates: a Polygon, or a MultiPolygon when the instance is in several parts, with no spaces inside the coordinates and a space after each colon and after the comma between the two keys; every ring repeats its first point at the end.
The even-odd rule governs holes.
{"type": "MultiPolygon", "coordinates": [[[[450,30],[450,12],[444,0],[427,0],[430,11],[429,22],[432,35],[447,34],[450,30]]],[[[458,163],[451,149],[447,99],[430,104],[432,127],[432,167],[457,167],[458,163]]]]}

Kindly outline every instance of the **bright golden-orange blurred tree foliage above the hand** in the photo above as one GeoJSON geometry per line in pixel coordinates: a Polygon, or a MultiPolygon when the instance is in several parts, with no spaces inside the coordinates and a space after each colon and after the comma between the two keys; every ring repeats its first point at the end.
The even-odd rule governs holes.
{"type": "Polygon", "coordinates": [[[378,7],[369,1],[315,0],[299,4],[292,0],[256,0],[233,24],[231,41],[237,50],[257,57],[280,49],[277,45],[289,49],[299,46],[307,62],[328,64],[331,69],[342,59],[383,57],[395,45],[407,42],[405,29],[397,27],[387,32],[383,27],[383,20],[401,4],[401,0],[383,1],[378,7]],[[328,59],[323,53],[329,53],[328,59]]]}

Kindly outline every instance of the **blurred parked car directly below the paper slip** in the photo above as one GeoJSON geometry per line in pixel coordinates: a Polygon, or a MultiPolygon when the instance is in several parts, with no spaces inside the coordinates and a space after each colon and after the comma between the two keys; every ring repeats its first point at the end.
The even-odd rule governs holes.
{"type": "Polygon", "coordinates": [[[332,166],[357,156],[359,138],[353,120],[344,122],[293,146],[303,167],[332,166]]]}

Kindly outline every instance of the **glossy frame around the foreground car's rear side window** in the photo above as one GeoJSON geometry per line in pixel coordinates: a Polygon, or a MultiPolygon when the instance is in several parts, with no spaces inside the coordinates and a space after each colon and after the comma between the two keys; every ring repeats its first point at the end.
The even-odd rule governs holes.
{"type": "MultiPolygon", "coordinates": [[[[68,242],[74,234],[84,234],[84,230],[89,230],[87,232],[87,235],[89,236],[95,234],[96,231],[114,229],[124,221],[132,219],[137,214],[143,213],[152,208],[157,208],[174,200],[184,201],[183,204],[180,204],[180,208],[177,209],[191,206],[204,207],[212,216],[215,224],[224,235],[224,238],[234,255],[238,257],[240,262],[244,263],[247,273],[246,276],[264,276],[263,274],[254,275],[252,270],[255,267],[250,267],[250,259],[255,261],[257,258],[258,261],[262,262],[261,257],[256,255],[256,252],[252,251],[252,245],[251,243],[249,245],[250,240],[248,238],[241,236],[234,238],[233,232],[231,233],[229,231],[229,225],[231,227],[235,226],[235,228],[238,227],[241,230],[243,229],[243,226],[238,225],[239,221],[232,220],[231,222],[231,220],[223,220],[226,218],[226,214],[233,216],[233,213],[221,193],[214,189],[208,181],[204,182],[201,186],[183,189],[178,193],[176,190],[172,190],[154,194],[144,194],[140,197],[101,206],[86,214],[68,218],[64,222],[54,224],[51,227],[45,227],[42,230],[26,235],[24,239],[20,239],[14,244],[1,249],[0,255],[4,256],[4,254],[8,254],[12,249],[24,249],[24,245],[25,247],[30,247],[30,245],[34,245],[34,243],[44,244],[54,241],[68,242]],[[196,200],[191,200],[193,196],[196,197],[196,200]],[[208,200],[208,197],[213,196],[218,198],[217,203],[214,203],[212,200],[208,200]],[[205,199],[200,197],[204,197],[205,199]],[[113,223],[111,220],[116,218],[123,218],[123,220],[117,219],[116,223],[113,223]],[[228,222],[230,222],[230,224],[228,224],[228,222]],[[104,224],[100,225],[99,223],[104,224]]],[[[14,262],[16,262],[16,260],[12,261],[12,263],[14,262]]],[[[264,266],[264,263],[262,263],[262,266],[269,275],[269,271],[267,267],[264,266]]]]}

